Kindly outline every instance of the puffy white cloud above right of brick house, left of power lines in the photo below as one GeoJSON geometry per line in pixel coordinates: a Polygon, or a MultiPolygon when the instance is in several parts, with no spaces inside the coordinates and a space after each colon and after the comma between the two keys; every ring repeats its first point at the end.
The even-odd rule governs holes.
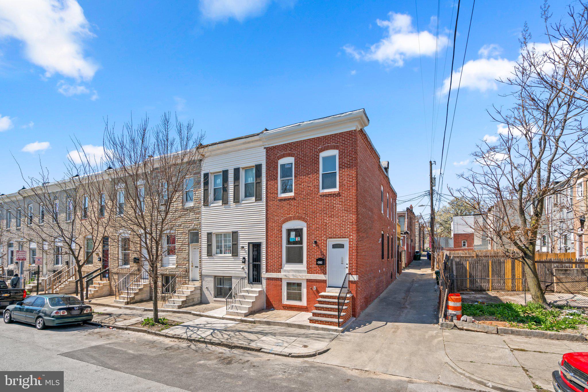
{"type": "Polygon", "coordinates": [[[377,25],[387,29],[384,38],[374,43],[367,51],[356,49],[352,45],[345,45],[343,49],[356,60],[377,61],[391,66],[402,66],[406,59],[419,56],[435,55],[447,46],[447,37],[439,36],[437,45],[435,35],[428,31],[420,33],[412,25],[412,17],[407,14],[390,12],[390,19],[377,19],[377,25]]]}

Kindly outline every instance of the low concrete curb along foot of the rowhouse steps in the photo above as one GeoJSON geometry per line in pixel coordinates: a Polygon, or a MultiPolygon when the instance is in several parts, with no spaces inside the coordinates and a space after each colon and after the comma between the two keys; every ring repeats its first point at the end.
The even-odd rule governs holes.
{"type": "MultiPolygon", "coordinates": [[[[105,303],[99,303],[99,302],[94,302],[93,304],[96,304],[99,306],[116,307],[118,309],[153,311],[153,309],[150,307],[119,305],[119,304],[105,304],[105,303]]],[[[351,326],[351,324],[355,320],[355,317],[351,317],[341,327],[325,327],[325,326],[320,326],[320,325],[310,326],[310,325],[305,325],[305,324],[286,323],[284,321],[278,321],[278,320],[249,319],[248,317],[238,317],[238,316],[219,316],[217,314],[207,314],[207,313],[203,313],[201,311],[192,311],[192,310],[161,308],[161,309],[159,309],[159,311],[171,312],[171,313],[192,314],[193,316],[197,316],[197,317],[208,317],[209,319],[238,321],[239,323],[263,324],[263,325],[269,325],[269,326],[289,327],[289,328],[298,328],[298,329],[306,329],[306,330],[311,330],[311,331],[322,331],[322,332],[333,332],[333,333],[343,333],[351,326]]]]}

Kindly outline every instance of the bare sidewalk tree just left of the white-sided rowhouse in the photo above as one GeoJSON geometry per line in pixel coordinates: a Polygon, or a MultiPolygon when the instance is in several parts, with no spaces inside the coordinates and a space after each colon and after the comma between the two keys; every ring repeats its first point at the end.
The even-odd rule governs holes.
{"type": "MultiPolygon", "coordinates": [[[[158,322],[159,266],[175,252],[166,235],[188,214],[184,203],[193,202],[193,173],[200,165],[203,135],[164,113],[155,126],[149,119],[137,125],[105,125],[106,161],[113,167],[116,187],[116,226],[128,234],[148,264],[153,300],[153,320],[158,322]],[[164,241],[165,240],[165,241],[164,241]]],[[[175,253],[174,253],[175,254],[175,253]]]]}

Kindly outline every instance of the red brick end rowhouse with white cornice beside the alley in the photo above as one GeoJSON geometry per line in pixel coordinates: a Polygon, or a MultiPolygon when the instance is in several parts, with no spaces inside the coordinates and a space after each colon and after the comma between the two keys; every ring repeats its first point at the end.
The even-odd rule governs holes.
{"type": "Polygon", "coordinates": [[[396,191],[365,110],[262,133],[266,145],[266,307],[337,325],[396,279],[396,191]]]}

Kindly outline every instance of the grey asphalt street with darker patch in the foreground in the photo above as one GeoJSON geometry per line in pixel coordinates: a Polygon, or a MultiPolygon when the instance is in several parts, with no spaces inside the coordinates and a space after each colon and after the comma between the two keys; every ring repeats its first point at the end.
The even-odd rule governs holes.
{"type": "Polygon", "coordinates": [[[458,391],[375,371],[92,326],[0,321],[2,370],[64,370],[66,391],[458,391]]]}

